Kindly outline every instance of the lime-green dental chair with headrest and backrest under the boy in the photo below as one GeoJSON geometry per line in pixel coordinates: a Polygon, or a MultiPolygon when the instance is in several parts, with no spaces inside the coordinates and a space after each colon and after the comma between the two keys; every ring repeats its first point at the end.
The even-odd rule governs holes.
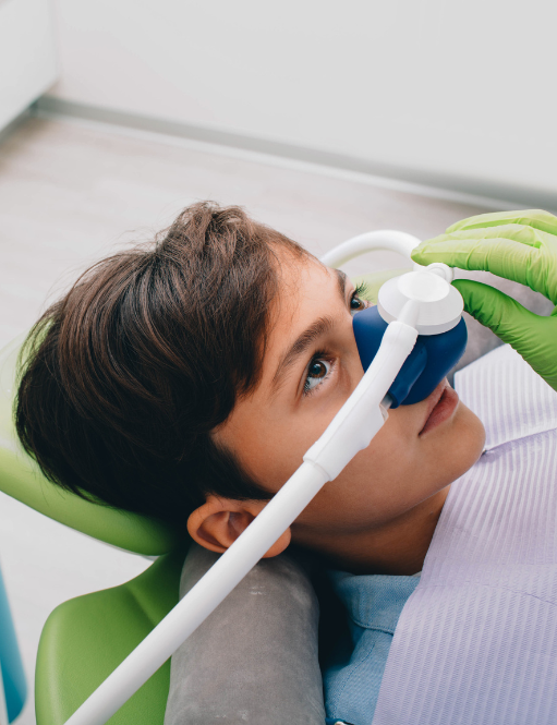
{"type": "MultiPolygon", "coordinates": [[[[403,270],[360,278],[376,302],[379,287],[403,270]]],[[[0,490],[35,510],[112,546],[158,557],[120,587],[70,600],[43,630],[36,666],[37,725],[62,725],[178,603],[187,541],[160,522],[85,502],[48,482],[23,454],[12,420],[16,361],[23,338],[0,352],[0,490]]],[[[16,613],[14,613],[16,616],[16,613]]],[[[170,660],[108,721],[162,725],[170,660]]]]}

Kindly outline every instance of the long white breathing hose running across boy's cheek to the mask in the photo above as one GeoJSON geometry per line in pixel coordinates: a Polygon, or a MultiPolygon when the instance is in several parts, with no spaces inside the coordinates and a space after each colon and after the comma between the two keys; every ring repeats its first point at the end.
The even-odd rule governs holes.
{"type": "MultiPolygon", "coordinates": [[[[322,262],[338,267],[373,250],[395,251],[408,258],[419,243],[419,239],[404,232],[375,231],[340,244],[322,262]]],[[[436,276],[449,276],[448,267],[435,266],[436,276]]],[[[431,275],[426,277],[431,281],[431,275]]],[[[195,587],[74,712],[66,725],[104,725],[234,589],[325,483],[336,479],[352,458],[370,445],[387,418],[390,404],[387,391],[417,338],[415,326],[421,305],[435,304],[446,297],[445,292],[432,299],[427,292],[432,285],[417,287],[421,292],[407,295],[397,319],[389,323],[372,364],[325,433],[307,450],[298,471],[195,587]]]]}

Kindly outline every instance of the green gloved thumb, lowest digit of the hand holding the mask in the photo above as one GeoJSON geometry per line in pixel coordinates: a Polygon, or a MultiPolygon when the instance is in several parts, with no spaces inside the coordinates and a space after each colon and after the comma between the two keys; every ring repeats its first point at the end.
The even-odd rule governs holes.
{"type": "Polygon", "coordinates": [[[456,279],[452,283],[462,294],[464,310],[477,322],[511,345],[542,376],[548,374],[548,366],[553,372],[557,355],[555,330],[553,326],[553,333],[544,329],[550,322],[549,317],[530,312],[517,300],[488,285],[470,279],[456,279]]]}

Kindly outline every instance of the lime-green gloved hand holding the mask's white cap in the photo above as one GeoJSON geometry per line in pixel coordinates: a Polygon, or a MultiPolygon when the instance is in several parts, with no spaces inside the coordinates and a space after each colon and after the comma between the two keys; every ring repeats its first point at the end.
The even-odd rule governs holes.
{"type": "MultiPolygon", "coordinates": [[[[547,212],[470,217],[422,242],[412,259],[484,269],[528,285],[557,304],[557,217],[547,212]]],[[[464,310],[509,342],[557,390],[557,307],[542,317],[488,285],[469,279],[452,283],[464,299],[464,310]]]]}

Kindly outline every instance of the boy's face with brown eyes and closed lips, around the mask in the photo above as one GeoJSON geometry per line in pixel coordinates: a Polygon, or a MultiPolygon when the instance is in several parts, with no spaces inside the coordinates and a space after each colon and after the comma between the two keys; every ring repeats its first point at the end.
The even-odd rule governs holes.
{"type": "MultiPolygon", "coordinates": [[[[363,376],[352,331],[359,306],[342,275],[314,259],[300,263],[282,255],[261,384],[215,433],[269,492],[294,473],[363,376]]],[[[351,535],[388,525],[477,460],[483,425],[452,399],[452,390],[445,396],[449,410],[456,402],[451,414],[437,424],[432,415],[424,430],[444,385],[422,402],[389,412],[371,445],[301,513],[292,527],[294,541],[312,545],[327,533],[351,535]]]]}

